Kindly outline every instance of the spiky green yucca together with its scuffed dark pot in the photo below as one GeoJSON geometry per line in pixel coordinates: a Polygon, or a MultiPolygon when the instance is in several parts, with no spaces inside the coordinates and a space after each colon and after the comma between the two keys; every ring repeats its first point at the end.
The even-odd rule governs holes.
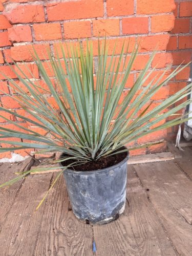
{"type": "MultiPolygon", "coordinates": [[[[106,40],[101,46],[98,41],[98,61],[94,60],[92,42],[89,41],[84,49],[80,42],[77,47],[61,45],[59,52],[55,50],[55,56],[48,52],[49,59],[45,62],[34,51],[34,61],[47,88],[42,88],[38,80],[30,79],[29,73],[33,77],[31,71],[27,70],[28,74],[23,72],[17,63],[14,63],[17,71],[10,67],[23,86],[6,77],[15,92],[15,95],[7,95],[14,98],[30,117],[15,113],[6,106],[0,107],[0,110],[49,134],[42,136],[30,127],[4,117],[22,132],[1,126],[1,142],[15,147],[2,147],[0,152],[25,148],[36,148],[40,153],[61,152],[60,159],[54,162],[60,162],[57,168],[62,170],[52,186],[63,173],[75,216],[93,224],[108,223],[124,210],[129,151],[143,146],[126,148],[125,145],[160,129],[185,122],[188,118],[181,118],[177,112],[191,102],[191,99],[186,100],[186,96],[191,93],[192,83],[152,108],[151,98],[186,67],[177,68],[163,79],[167,68],[147,82],[155,71],[151,68],[155,52],[122,99],[139,46],[135,46],[130,56],[124,44],[119,56],[115,56],[115,48],[116,45],[109,57],[106,40]],[[52,78],[48,76],[45,65],[53,74],[52,78]],[[163,122],[172,115],[176,115],[175,119],[163,122]],[[10,138],[21,141],[10,141],[10,138]]],[[[10,185],[42,168],[29,170],[1,186],[10,185]]]]}

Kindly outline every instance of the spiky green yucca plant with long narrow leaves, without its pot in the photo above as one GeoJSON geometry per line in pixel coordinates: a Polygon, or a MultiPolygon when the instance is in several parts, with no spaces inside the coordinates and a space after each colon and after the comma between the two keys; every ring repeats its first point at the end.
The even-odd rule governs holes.
{"type": "MultiPolygon", "coordinates": [[[[34,79],[29,79],[28,74],[23,72],[17,63],[14,65],[18,72],[10,66],[23,86],[20,87],[13,79],[6,77],[15,92],[15,95],[7,95],[14,98],[32,118],[19,115],[6,106],[0,106],[0,110],[40,127],[49,133],[49,136],[42,136],[30,130],[30,127],[27,128],[19,122],[8,120],[0,112],[0,116],[6,122],[22,129],[22,132],[17,132],[17,130],[7,129],[4,126],[0,127],[1,142],[14,145],[10,148],[0,148],[0,152],[36,148],[39,153],[55,151],[65,153],[61,159],[62,170],[64,170],[69,165],[96,162],[114,154],[146,146],[138,145],[122,150],[123,145],[130,144],[140,137],[188,120],[187,113],[182,118],[177,113],[192,101],[186,100],[191,93],[192,83],[151,108],[153,103],[151,98],[187,65],[178,67],[162,81],[168,68],[161,75],[153,76],[155,68],[151,68],[151,63],[155,56],[154,52],[137,77],[134,86],[119,104],[134,61],[138,56],[139,46],[134,47],[128,60],[129,43],[126,49],[123,44],[120,55],[116,56],[117,40],[109,58],[106,40],[102,45],[100,42],[98,42],[96,66],[94,66],[93,45],[90,41],[87,41],[87,47],[84,49],[80,42],[77,47],[60,45],[59,53],[62,53],[62,58],[60,58],[58,49],[54,54],[48,51],[49,59],[45,63],[55,82],[48,76],[44,63],[34,51],[34,62],[47,89],[41,88],[27,66],[27,73],[34,79]],[[94,69],[96,74],[94,74],[94,69]],[[151,81],[147,86],[143,86],[150,77],[153,77],[151,81]],[[50,103],[50,96],[54,99],[54,103],[50,103]],[[171,106],[172,108],[169,108],[171,106]],[[161,122],[172,115],[175,115],[174,119],[161,122]],[[10,138],[21,140],[11,141],[10,138]]],[[[37,167],[32,172],[38,172],[42,168],[43,166],[37,167]]],[[[25,172],[1,186],[10,185],[30,172],[25,172]]]]}

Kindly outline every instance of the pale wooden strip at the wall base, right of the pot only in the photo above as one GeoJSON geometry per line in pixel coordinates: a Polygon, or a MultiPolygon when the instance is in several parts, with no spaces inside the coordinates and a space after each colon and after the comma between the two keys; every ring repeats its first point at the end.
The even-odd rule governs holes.
{"type": "Polygon", "coordinates": [[[164,153],[148,154],[143,156],[132,156],[129,158],[129,161],[127,162],[127,164],[160,162],[160,161],[168,161],[173,159],[174,159],[174,155],[171,152],[164,152],[164,153]]]}

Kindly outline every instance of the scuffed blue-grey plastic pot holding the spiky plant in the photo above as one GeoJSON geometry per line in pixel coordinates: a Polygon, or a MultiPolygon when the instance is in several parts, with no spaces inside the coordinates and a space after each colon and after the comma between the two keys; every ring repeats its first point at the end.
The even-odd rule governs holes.
{"type": "Polygon", "coordinates": [[[72,209],[78,219],[101,225],[122,214],[128,158],[129,153],[120,163],[100,170],[76,172],[66,169],[63,172],[72,209]]]}

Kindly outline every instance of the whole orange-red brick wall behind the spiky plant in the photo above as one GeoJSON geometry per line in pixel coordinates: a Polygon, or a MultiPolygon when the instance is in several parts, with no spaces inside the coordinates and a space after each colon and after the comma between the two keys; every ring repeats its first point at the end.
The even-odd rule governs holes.
{"type": "MultiPolygon", "coordinates": [[[[156,74],[161,74],[164,68],[173,62],[173,69],[182,61],[186,63],[191,58],[192,2],[174,0],[69,0],[69,1],[33,1],[12,0],[0,1],[0,71],[17,80],[4,59],[11,63],[11,58],[20,63],[25,61],[35,78],[42,86],[44,82],[39,77],[38,69],[32,62],[29,52],[31,45],[35,46],[42,60],[47,53],[46,48],[53,51],[60,40],[72,41],[76,44],[81,38],[82,44],[86,38],[95,39],[107,36],[110,50],[113,49],[116,37],[118,46],[116,54],[120,53],[120,47],[124,38],[131,39],[130,52],[135,42],[140,41],[139,56],[133,67],[132,74],[127,82],[124,94],[133,86],[139,71],[150,57],[152,51],[158,45],[158,53],[152,63],[156,67],[156,74]]],[[[95,51],[96,53],[96,51],[95,51]]],[[[177,75],[172,82],[164,86],[158,95],[154,97],[154,105],[164,100],[168,95],[174,94],[182,88],[188,79],[189,69],[177,75]]],[[[166,74],[165,74],[166,76],[166,74]]],[[[7,81],[0,74],[1,90],[14,94],[7,86],[7,81]]],[[[18,81],[19,83],[19,81],[18,81]]],[[[22,86],[22,85],[21,85],[22,86]]],[[[7,95],[0,92],[2,104],[14,111],[25,114],[24,110],[7,95]]],[[[123,97],[123,95],[122,95],[123,97]]],[[[14,120],[8,114],[7,118],[14,120]]],[[[22,120],[14,120],[22,123],[22,120]]],[[[1,125],[10,126],[0,118],[1,125]]],[[[23,125],[28,125],[23,122],[23,125]]],[[[38,129],[33,127],[33,129],[38,129]]],[[[173,139],[177,127],[151,134],[141,138],[135,144],[155,141],[163,138],[173,139]]],[[[5,146],[5,145],[2,145],[5,146]]],[[[10,146],[10,145],[9,145],[10,146]]],[[[146,154],[163,150],[165,143],[150,148],[132,152],[132,154],[146,154]]],[[[10,153],[11,154],[11,153],[10,153]]],[[[11,155],[2,153],[0,158],[11,155]]],[[[19,151],[18,154],[25,155],[19,151]]]]}

